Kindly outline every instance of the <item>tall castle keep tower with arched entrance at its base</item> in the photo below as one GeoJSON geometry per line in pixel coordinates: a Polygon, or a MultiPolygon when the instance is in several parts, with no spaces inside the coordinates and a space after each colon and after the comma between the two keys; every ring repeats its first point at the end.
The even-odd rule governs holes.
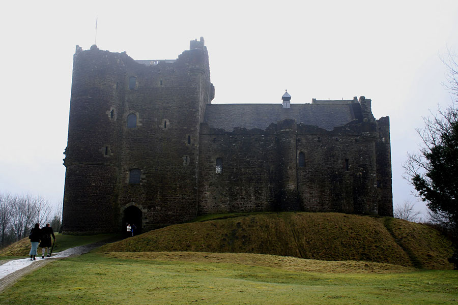
{"type": "Polygon", "coordinates": [[[176,60],[74,55],[66,232],[151,229],[197,214],[198,134],[214,97],[204,40],[176,60]]]}

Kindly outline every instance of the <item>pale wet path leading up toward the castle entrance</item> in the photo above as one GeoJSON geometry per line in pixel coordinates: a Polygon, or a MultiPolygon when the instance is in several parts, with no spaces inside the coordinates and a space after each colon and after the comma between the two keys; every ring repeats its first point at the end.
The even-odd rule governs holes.
{"type": "Polygon", "coordinates": [[[0,265],[0,293],[3,292],[6,288],[12,286],[27,273],[30,273],[38,268],[43,267],[51,260],[63,259],[69,256],[88,253],[89,251],[98,248],[104,244],[104,241],[94,242],[90,243],[89,245],[70,248],[62,252],[58,252],[52,257],[48,257],[45,259],[39,257],[35,261],[32,261],[29,258],[21,258],[7,261],[4,264],[0,265]]]}

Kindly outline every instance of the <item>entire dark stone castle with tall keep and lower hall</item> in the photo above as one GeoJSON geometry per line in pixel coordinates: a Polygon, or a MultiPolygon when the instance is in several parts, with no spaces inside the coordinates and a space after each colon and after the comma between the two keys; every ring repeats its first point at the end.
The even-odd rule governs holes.
{"type": "MultiPolygon", "coordinates": [[[[142,230],[198,215],[392,216],[389,118],[371,101],[211,104],[204,39],[174,60],[76,46],[64,231],[142,230]]],[[[280,100],[281,97],[281,100],[280,100]]]]}

